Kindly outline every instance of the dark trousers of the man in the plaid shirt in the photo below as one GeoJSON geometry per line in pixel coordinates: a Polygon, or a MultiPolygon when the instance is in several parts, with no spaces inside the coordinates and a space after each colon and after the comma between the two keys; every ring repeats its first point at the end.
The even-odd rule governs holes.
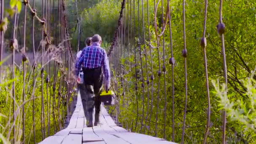
{"type": "Polygon", "coordinates": [[[93,107],[95,107],[95,122],[94,125],[99,123],[99,112],[101,106],[100,93],[103,83],[103,75],[101,67],[94,69],[82,68],[84,74],[85,84],[85,98],[86,107],[88,111],[88,126],[92,126],[93,121],[93,107]]]}

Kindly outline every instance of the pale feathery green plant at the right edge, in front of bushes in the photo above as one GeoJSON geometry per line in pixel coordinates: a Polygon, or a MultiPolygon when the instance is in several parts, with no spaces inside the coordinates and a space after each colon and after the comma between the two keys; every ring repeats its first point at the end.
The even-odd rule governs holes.
{"type": "MultiPolygon", "coordinates": [[[[228,116],[228,121],[237,121],[244,125],[244,131],[256,131],[256,87],[255,80],[253,79],[254,72],[251,74],[248,79],[243,83],[247,88],[246,93],[244,94],[247,99],[243,101],[242,99],[234,100],[232,97],[236,93],[227,94],[225,90],[225,84],[219,86],[219,81],[217,83],[213,81],[213,86],[216,90],[216,96],[220,99],[219,107],[220,109],[225,109],[228,116]]],[[[255,137],[256,135],[252,135],[255,137]]]]}

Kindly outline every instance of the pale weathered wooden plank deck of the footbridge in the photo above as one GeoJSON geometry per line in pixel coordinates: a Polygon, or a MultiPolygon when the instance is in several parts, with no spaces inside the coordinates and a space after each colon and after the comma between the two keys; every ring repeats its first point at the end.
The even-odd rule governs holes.
{"type": "MultiPolygon", "coordinates": [[[[117,126],[101,105],[100,124],[87,128],[80,93],[69,125],[39,144],[176,144],[165,139],[132,133],[117,126]]],[[[94,118],[93,118],[94,120],[94,118]]]]}

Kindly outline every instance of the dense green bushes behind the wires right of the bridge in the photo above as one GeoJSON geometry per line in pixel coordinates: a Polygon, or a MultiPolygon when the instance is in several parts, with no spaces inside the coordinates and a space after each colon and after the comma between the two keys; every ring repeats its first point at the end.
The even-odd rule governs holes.
{"type": "MultiPolygon", "coordinates": [[[[129,1],[130,2],[130,1],[129,1]]],[[[149,101],[149,113],[151,106],[151,87],[153,90],[153,101],[152,101],[152,117],[151,124],[147,125],[143,123],[142,132],[149,128],[149,134],[155,135],[155,123],[156,123],[156,112],[157,112],[157,91],[159,90],[159,109],[158,109],[158,121],[157,121],[157,136],[163,137],[164,128],[164,105],[165,105],[165,94],[164,94],[164,77],[163,72],[160,76],[160,87],[158,88],[158,74],[157,71],[162,71],[163,60],[165,60],[165,81],[166,81],[166,93],[167,93],[167,117],[166,117],[166,139],[171,140],[172,135],[172,72],[171,64],[169,64],[169,58],[171,58],[171,40],[170,40],[170,27],[167,25],[164,33],[164,44],[163,37],[159,38],[159,53],[157,48],[152,48],[152,70],[151,70],[151,58],[149,53],[149,35],[151,38],[151,44],[156,45],[157,39],[155,36],[154,28],[154,1],[149,0],[149,25],[147,24],[147,2],[144,1],[144,29],[145,29],[145,42],[142,31],[142,16],[140,13],[138,21],[138,10],[135,7],[135,17],[133,17],[133,3],[132,3],[132,27],[131,24],[128,27],[128,18],[126,15],[125,29],[132,30],[132,35],[129,35],[130,40],[126,38],[125,44],[121,44],[121,40],[118,41],[115,47],[114,57],[110,57],[114,63],[112,63],[112,69],[115,70],[114,77],[112,78],[113,89],[119,96],[117,98],[119,109],[119,122],[127,129],[133,130],[135,132],[141,132],[141,118],[142,118],[142,106],[144,104],[144,122],[147,112],[147,102],[149,101]],[[134,20],[135,19],[135,20],[134,20]],[[149,32],[147,29],[149,28],[149,32]],[[132,37],[132,38],[131,38],[132,37]],[[136,38],[135,38],[136,37],[136,38]],[[141,42],[141,48],[143,54],[142,59],[142,69],[139,58],[138,40],[141,42]],[[119,46],[119,45],[122,45],[119,46]],[[127,46],[128,45],[128,46],[127,46]],[[121,69],[117,67],[117,61],[121,57],[117,57],[117,53],[121,51],[121,48],[125,50],[125,55],[121,56],[122,62],[122,72],[121,69]],[[136,48],[136,57],[134,54],[134,48],[136,48]],[[163,56],[163,48],[165,48],[165,56],[163,56]],[[144,55],[145,54],[145,55],[144,55]],[[159,59],[158,59],[159,54],[159,59]],[[147,57],[147,61],[145,58],[147,57]],[[135,59],[136,59],[136,69],[137,69],[137,86],[138,93],[135,91],[135,59]],[[159,65],[160,63],[160,65],[159,65]],[[147,70],[146,70],[147,65],[147,70]],[[145,82],[147,80],[147,74],[149,75],[149,85],[145,82]],[[154,76],[153,85],[151,83],[150,77],[154,76]],[[144,93],[141,87],[141,81],[144,80],[144,93]],[[138,96],[139,105],[139,119],[137,128],[135,128],[136,121],[136,95],[138,96]],[[149,99],[148,99],[149,96],[149,99]],[[144,97],[144,103],[142,98],[144,97]]],[[[135,6],[138,3],[135,3],[135,6]]],[[[141,4],[140,4],[141,5],[141,4]]],[[[240,107],[244,109],[243,117],[246,123],[250,124],[255,117],[252,110],[250,111],[245,104],[248,101],[249,94],[247,89],[250,88],[246,83],[243,83],[248,75],[251,74],[251,70],[254,69],[256,65],[253,60],[255,52],[255,27],[253,24],[256,21],[255,18],[255,8],[256,2],[254,0],[236,0],[236,1],[225,1],[223,2],[223,22],[226,26],[226,31],[224,33],[225,47],[226,47],[226,57],[227,57],[227,76],[228,76],[228,94],[232,101],[241,101],[246,107],[240,107]],[[245,109],[246,108],[246,109],[245,109]],[[246,110],[246,111],[245,111],[246,110]],[[246,113],[247,112],[247,113],[246,113]],[[249,113],[248,113],[249,112],[249,113]],[[245,114],[250,114],[246,115],[245,114]]],[[[201,143],[204,138],[206,121],[207,121],[207,93],[205,88],[205,71],[204,71],[204,60],[203,51],[200,47],[199,41],[203,35],[203,13],[204,13],[205,3],[203,1],[186,1],[186,48],[188,51],[187,56],[187,86],[188,86],[188,100],[187,100],[187,117],[185,123],[185,137],[184,143],[201,143]]],[[[127,8],[127,5],[126,5],[127,8]]],[[[130,8],[130,7],[129,7],[130,8]]],[[[164,4],[164,10],[166,8],[166,2],[164,4]]],[[[140,7],[141,12],[141,7],[140,7]]],[[[127,14],[127,11],[126,11],[127,14]]],[[[130,14],[130,13],[129,13],[130,14]]],[[[164,15],[165,16],[165,15],[164,15]]],[[[130,18],[130,15],[129,15],[130,18]]],[[[131,21],[129,21],[131,22],[131,21]]],[[[206,22],[206,39],[207,39],[207,59],[208,59],[208,78],[209,81],[216,80],[219,78],[220,83],[224,82],[223,79],[223,61],[221,55],[221,41],[219,35],[217,34],[216,24],[219,22],[219,1],[213,0],[208,2],[208,13],[206,22]]],[[[182,133],[182,123],[184,114],[184,104],[185,104],[185,88],[184,88],[184,58],[181,56],[181,51],[184,48],[183,40],[183,18],[182,18],[182,1],[176,0],[171,3],[171,26],[172,26],[172,43],[173,43],[173,57],[175,58],[174,67],[174,135],[175,142],[181,142],[182,133]]],[[[168,23],[167,23],[168,24],[168,23]]],[[[161,31],[162,27],[162,10],[161,2],[157,11],[157,29],[158,33],[161,31]]],[[[127,31],[126,31],[126,37],[127,31]]],[[[255,80],[256,77],[253,77],[255,80]]],[[[254,83],[254,82],[253,82],[254,83]]],[[[221,126],[222,117],[221,110],[219,107],[218,97],[214,96],[214,85],[210,84],[210,97],[211,97],[211,119],[210,119],[210,129],[208,133],[207,141],[213,143],[221,142],[221,126]]],[[[254,90],[252,90],[254,91],[254,90]]],[[[224,97],[225,98],[225,97],[224,97]]],[[[224,99],[223,98],[223,99],[224,99]]],[[[225,101],[227,100],[224,99],[225,101]]],[[[222,101],[223,102],[223,101],[222,101]]],[[[225,103],[222,103],[225,104],[225,103]]],[[[240,114],[238,113],[238,114],[240,114]]],[[[237,115],[238,115],[237,114],[237,115]]],[[[114,114],[115,115],[115,114],[114,114]]],[[[148,116],[149,117],[149,116],[148,116]]],[[[234,116],[233,116],[234,117],[234,116]]],[[[254,120],[255,121],[255,120],[254,120]]],[[[245,125],[240,121],[232,121],[227,123],[226,128],[226,141],[227,143],[255,143],[255,135],[253,135],[252,130],[244,127],[245,125]]],[[[251,126],[252,127],[252,126],[251,126]]]]}

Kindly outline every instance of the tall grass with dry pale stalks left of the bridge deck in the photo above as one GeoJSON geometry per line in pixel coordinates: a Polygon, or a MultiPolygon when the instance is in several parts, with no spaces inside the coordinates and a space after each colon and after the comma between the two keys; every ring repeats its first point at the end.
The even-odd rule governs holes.
{"type": "MultiPolygon", "coordinates": [[[[44,43],[44,42],[43,42],[44,43]]],[[[34,61],[26,61],[26,77],[25,77],[25,101],[22,101],[23,93],[23,67],[22,65],[15,66],[15,79],[11,79],[12,69],[10,65],[2,66],[0,83],[0,143],[22,143],[22,106],[24,105],[25,118],[25,143],[34,143],[33,123],[35,124],[35,142],[42,140],[41,131],[41,70],[44,67],[43,75],[43,99],[45,117],[45,136],[53,135],[56,131],[64,127],[64,117],[67,111],[67,85],[65,84],[65,76],[67,70],[62,63],[62,53],[66,51],[60,43],[58,46],[49,45],[47,51],[35,56],[37,66],[33,72],[34,61]],[[43,65],[41,59],[43,56],[43,65]],[[49,73],[47,73],[49,72],[49,73]],[[34,75],[35,74],[35,75],[34,75]],[[46,79],[49,78],[49,86],[47,87],[46,79]],[[15,112],[13,119],[13,98],[12,82],[15,82],[15,112]],[[53,85],[55,85],[55,95],[53,96],[53,85]],[[59,92],[61,94],[59,94],[59,92]],[[35,122],[33,122],[33,101],[35,122]],[[54,115],[55,114],[55,115],[54,115]],[[55,117],[54,117],[55,116],[55,117]],[[50,122],[48,125],[48,121],[50,122]],[[48,126],[49,132],[48,132],[48,126]],[[13,128],[15,128],[15,141],[13,137],[13,128]]],[[[26,53],[22,53],[26,55],[26,53]]],[[[7,60],[7,59],[5,59],[7,60]]],[[[0,64],[3,64],[1,62],[0,64]]],[[[71,76],[71,80],[72,80],[71,76]]],[[[70,86],[72,88],[72,84],[70,86]]],[[[69,97],[69,99],[72,96],[69,97]]],[[[69,100],[71,103],[72,100],[69,100]]]]}

